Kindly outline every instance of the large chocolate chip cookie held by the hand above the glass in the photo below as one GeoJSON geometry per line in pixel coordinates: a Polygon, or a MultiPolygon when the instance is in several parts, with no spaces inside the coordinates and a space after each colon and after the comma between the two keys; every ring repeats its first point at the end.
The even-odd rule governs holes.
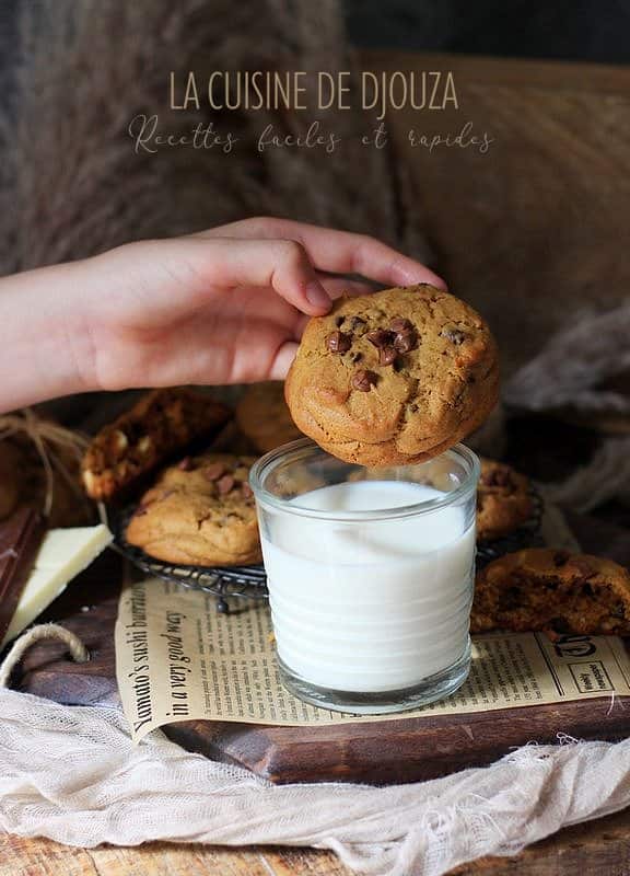
{"type": "Polygon", "coordinates": [[[375,466],[440,453],[485,420],[498,393],[488,326],[428,285],[338,300],[308,322],[285,384],[305,435],[375,466]]]}

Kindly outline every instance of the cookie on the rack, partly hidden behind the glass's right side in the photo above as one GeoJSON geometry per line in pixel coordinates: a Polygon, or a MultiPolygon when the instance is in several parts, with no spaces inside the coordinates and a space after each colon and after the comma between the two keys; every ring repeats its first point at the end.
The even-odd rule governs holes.
{"type": "Polygon", "coordinates": [[[481,460],[477,488],[477,540],[508,535],[532,514],[529,482],[503,462],[481,460]]]}

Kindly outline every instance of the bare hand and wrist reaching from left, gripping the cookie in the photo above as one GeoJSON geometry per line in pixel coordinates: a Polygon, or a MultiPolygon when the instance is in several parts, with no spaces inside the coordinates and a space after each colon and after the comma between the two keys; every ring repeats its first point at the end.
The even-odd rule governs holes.
{"type": "Polygon", "coordinates": [[[9,395],[0,389],[0,410],[86,390],[283,378],[305,315],[326,313],[343,291],[369,290],[318,272],[444,285],[371,238],[279,219],[8,277],[0,360],[21,377],[9,395]]]}

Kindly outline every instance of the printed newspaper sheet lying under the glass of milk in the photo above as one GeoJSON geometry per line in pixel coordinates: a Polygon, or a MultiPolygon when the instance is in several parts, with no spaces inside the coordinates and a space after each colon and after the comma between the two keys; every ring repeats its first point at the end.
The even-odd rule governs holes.
{"type": "Polygon", "coordinates": [[[220,614],[214,597],[158,578],[122,590],[116,673],[135,741],[165,724],[199,718],[313,726],[630,695],[620,638],[490,633],[474,638],[468,680],[446,700],[395,715],[316,708],[280,682],[266,601],[220,614]]]}

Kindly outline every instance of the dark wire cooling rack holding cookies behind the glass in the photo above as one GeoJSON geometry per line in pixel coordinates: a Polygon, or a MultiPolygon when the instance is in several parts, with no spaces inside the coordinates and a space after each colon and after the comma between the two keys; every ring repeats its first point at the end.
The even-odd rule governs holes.
{"type": "MultiPolygon", "coordinates": [[[[503,554],[521,551],[523,548],[540,545],[540,523],[542,520],[544,503],[540,494],[530,487],[532,515],[518,529],[500,539],[492,539],[477,544],[477,567],[481,568],[503,554]]],[[[192,590],[202,590],[217,598],[217,611],[228,614],[230,602],[235,599],[267,599],[267,575],[262,565],[252,566],[192,566],[166,563],[155,560],[149,554],[135,548],[125,538],[127,525],[136,506],[128,506],[122,510],[105,510],[101,506],[104,522],[112,528],[115,537],[115,549],[127,557],[145,575],[152,575],[163,580],[189,587],[192,590]]]]}

